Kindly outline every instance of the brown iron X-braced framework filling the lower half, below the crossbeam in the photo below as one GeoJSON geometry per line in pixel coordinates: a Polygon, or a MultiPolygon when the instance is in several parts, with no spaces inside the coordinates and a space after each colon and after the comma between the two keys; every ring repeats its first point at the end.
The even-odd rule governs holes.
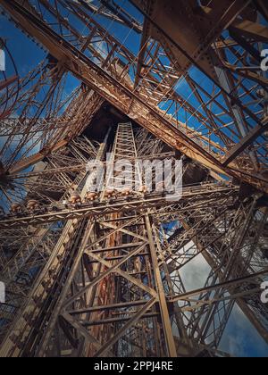
{"type": "MultiPolygon", "coordinates": [[[[104,153],[105,144],[96,158],[104,153]]],[[[113,161],[122,155],[138,156],[130,123],[120,124],[115,136],[113,161]]],[[[82,197],[94,173],[80,178],[82,197]]],[[[108,179],[107,189],[111,184],[108,179]]],[[[267,339],[268,316],[259,300],[268,272],[260,246],[267,213],[257,213],[259,196],[242,202],[237,187],[214,182],[186,187],[181,201],[172,204],[164,195],[146,193],[107,201],[105,191],[99,203],[52,213],[53,221],[62,223],[61,232],[7,330],[1,355],[220,355],[236,303],[247,316],[251,312],[255,328],[267,339]],[[163,222],[173,223],[168,231],[163,222]],[[204,287],[187,291],[182,271],[201,254],[211,271],[204,287]]],[[[38,214],[13,221],[20,230],[44,228],[48,222],[41,223],[38,214]]],[[[1,222],[3,237],[12,236],[11,224],[1,222]]],[[[44,246],[50,230],[37,232],[36,241],[44,246]]],[[[36,254],[33,237],[27,241],[36,254]]],[[[24,246],[5,265],[5,278],[23,268],[23,258],[27,262],[24,246]]],[[[32,263],[27,265],[30,270],[32,263]]]]}

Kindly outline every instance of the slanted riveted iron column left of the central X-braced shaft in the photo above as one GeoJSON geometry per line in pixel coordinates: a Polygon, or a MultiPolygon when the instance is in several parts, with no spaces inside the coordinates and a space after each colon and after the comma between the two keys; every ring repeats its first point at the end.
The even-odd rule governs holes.
{"type": "MultiPolygon", "coordinates": [[[[105,146],[105,143],[100,146],[96,160],[103,157],[105,146]]],[[[94,179],[95,175],[89,173],[79,179],[81,199],[86,196],[88,187],[94,179]]],[[[41,333],[43,335],[42,341],[47,338],[48,335],[46,336],[42,329],[46,327],[46,333],[49,333],[51,321],[56,322],[54,312],[63,291],[65,291],[66,281],[64,278],[66,272],[70,274],[71,262],[75,261],[76,257],[80,255],[77,252],[77,246],[80,243],[84,226],[85,222],[78,219],[67,221],[65,224],[61,237],[59,237],[46,266],[39,274],[29,294],[27,305],[21,310],[20,316],[13,324],[13,329],[7,334],[0,346],[0,356],[28,356],[35,353],[41,333]],[[51,298],[53,294],[57,296],[56,299],[51,298]]]]}

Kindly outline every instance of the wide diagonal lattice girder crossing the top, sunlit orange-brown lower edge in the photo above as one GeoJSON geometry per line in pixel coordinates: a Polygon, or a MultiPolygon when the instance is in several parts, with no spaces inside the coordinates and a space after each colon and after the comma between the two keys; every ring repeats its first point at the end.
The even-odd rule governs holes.
{"type": "MultiPolygon", "coordinates": [[[[210,170],[232,176],[235,175],[239,179],[246,179],[250,183],[265,189],[265,178],[262,177],[262,173],[266,168],[266,144],[265,137],[262,137],[262,135],[267,129],[266,104],[265,99],[255,105],[251,104],[251,102],[252,100],[256,102],[260,90],[263,90],[265,97],[266,83],[265,79],[263,82],[257,79],[256,83],[256,79],[252,78],[250,74],[247,74],[246,78],[244,77],[245,81],[238,77],[238,72],[240,73],[243,69],[250,70],[253,53],[252,49],[250,49],[251,45],[248,45],[247,41],[248,30],[244,25],[246,21],[242,22],[242,25],[238,25],[237,21],[233,21],[239,14],[247,20],[247,6],[250,10],[251,5],[249,3],[251,2],[246,4],[245,2],[238,2],[230,7],[228,2],[222,2],[221,9],[217,7],[215,10],[214,8],[200,9],[199,11],[203,12],[202,17],[204,17],[204,19],[201,17],[203,23],[201,22],[200,29],[202,27],[203,29],[198,38],[196,37],[198,29],[193,29],[196,34],[192,36],[192,47],[195,44],[197,45],[197,42],[199,43],[200,35],[204,34],[205,22],[208,25],[210,18],[216,15],[221,19],[221,14],[226,14],[216,32],[211,32],[210,30],[209,38],[205,37],[203,44],[206,43],[207,45],[205,47],[197,45],[199,49],[194,55],[194,59],[190,58],[190,51],[183,49],[184,46],[178,46],[174,42],[172,47],[167,46],[167,31],[162,28],[161,22],[157,29],[161,39],[159,40],[158,37],[158,39],[156,38],[152,41],[152,45],[148,44],[148,37],[153,37],[153,39],[155,37],[155,29],[153,31],[151,29],[148,30],[148,26],[145,25],[144,45],[142,44],[141,46],[138,60],[135,55],[131,54],[123,46],[120,40],[110,36],[96,22],[85,2],[77,4],[76,2],[65,3],[60,1],[57,9],[47,1],[33,3],[37,3],[36,8],[32,6],[31,2],[27,4],[23,2],[21,4],[13,1],[10,4],[3,1],[2,5],[22,29],[26,30],[29,35],[35,37],[48,49],[49,53],[54,56],[55,61],[59,63],[59,66],[71,71],[88,87],[93,88],[100,96],[119,108],[121,112],[128,114],[130,118],[138,121],[140,125],[157,137],[161,137],[170,146],[179,149],[183,154],[187,154],[194,160],[203,163],[210,170]],[[35,9],[39,9],[40,12],[35,11],[35,9]],[[43,19],[42,14],[45,10],[50,15],[49,21],[43,19]],[[74,25],[71,24],[71,21],[66,21],[63,18],[59,10],[63,13],[68,12],[68,14],[71,14],[70,20],[73,16],[81,25],[86,26],[89,31],[89,37],[85,40],[85,37],[80,35],[74,25]],[[231,22],[235,26],[230,28],[231,22]],[[60,34],[55,31],[58,27],[61,30],[60,34]],[[241,56],[231,43],[227,43],[224,40],[221,42],[221,47],[217,44],[214,45],[214,49],[218,49],[214,50],[211,47],[210,43],[214,43],[215,38],[219,37],[219,34],[226,27],[230,28],[228,29],[230,35],[233,35],[233,29],[235,29],[235,33],[242,33],[240,38],[245,38],[245,41],[243,39],[244,43],[241,42],[242,47],[245,48],[245,52],[241,56]],[[104,47],[100,48],[100,46],[104,47]],[[172,53],[171,48],[177,48],[180,51],[179,56],[177,56],[177,52],[176,59],[177,61],[181,59],[184,61],[184,68],[174,64],[172,61],[170,56],[175,53],[172,53]],[[230,63],[228,65],[228,63],[223,62],[222,49],[225,55],[232,54],[235,56],[236,65],[233,70],[230,69],[230,63]],[[200,50],[202,53],[200,53],[200,50]],[[206,65],[204,66],[205,63],[200,63],[202,54],[205,53],[207,53],[205,55],[205,63],[210,64],[209,68],[206,65]],[[163,66],[163,61],[168,60],[167,54],[171,61],[163,66]],[[161,60],[159,56],[163,55],[164,57],[161,60]],[[146,60],[143,62],[143,59],[148,59],[149,63],[146,60]],[[194,81],[185,73],[190,63],[194,63],[202,74],[211,79],[213,94],[204,92],[204,88],[200,87],[200,83],[194,81]],[[228,66],[228,72],[224,70],[224,64],[225,69],[226,65],[228,66]],[[243,64],[243,67],[241,67],[241,64],[243,64]],[[245,64],[246,67],[244,67],[245,64]],[[163,71],[164,69],[165,71],[163,71]],[[134,85],[130,79],[133,74],[136,76],[136,84],[134,85]],[[186,79],[187,84],[193,90],[193,94],[197,96],[197,100],[200,102],[200,111],[188,104],[187,100],[178,96],[176,88],[180,86],[180,81],[183,79],[186,79]],[[249,82],[252,85],[251,87],[249,87],[249,82]],[[206,96],[206,99],[204,99],[204,96],[206,96]],[[212,107],[214,108],[213,111],[209,109],[212,107]],[[188,123],[185,124],[180,121],[179,110],[187,111],[190,119],[195,118],[199,122],[198,126],[197,122],[194,122],[197,130],[190,129],[188,123]],[[222,121],[222,118],[229,118],[227,120],[228,123],[222,121]],[[199,129],[204,130],[200,132],[199,129]],[[247,142],[243,139],[246,134],[249,134],[247,142]],[[217,137],[221,140],[219,145],[214,141],[214,138],[217,137]],[[255,142],[254,146],[248,151],[247,147],[249,145],[252,146],[253,142],[255,142]],[[246,149],[247,153],[240,156],[243,150],[246,149]],[[234,160],[235,162],[233,162],[234,160]]],[[[163,2],[158,3],[154,5],[156,12],[159,10],[157,6],[160,7],[163,2]]],[[[138,4],[138,7],[142,8],[140,4],[138,4]]],[[[184,12],[187,10],[187,18],[192,17],[189,27],[195,22],[195,16],[189,7],[185,6],[183,9],[185,9],[184,12]]],[[[146,17],[147,21],[151,21],[147,14],[146,17]]],[[[267,29],[263,25],[252,23],[252,25],[250,24],[250,37],[254,39],[255,45],[257,45],[258,42],[262,43],[266,40],[267,29]],[[260,31],[258,33],[254,32],[255,29],[260,31]]],[[[151,28],[152,25],[155,27],[155,22],[151,21],[151,28]]],[[[175,28],[174,31],[176,31],[175,28]]],[[[171,44],[172,41],[172,36],[169,35],[168,42],[171,44]]],[[[256,53],[253,58],[256,59],[256,53]]],[[[254,75],[255,73],[252,74],[254,75]]],[[[211,84],[207,84],[207,86],[209,87],[211,84]]]]}

